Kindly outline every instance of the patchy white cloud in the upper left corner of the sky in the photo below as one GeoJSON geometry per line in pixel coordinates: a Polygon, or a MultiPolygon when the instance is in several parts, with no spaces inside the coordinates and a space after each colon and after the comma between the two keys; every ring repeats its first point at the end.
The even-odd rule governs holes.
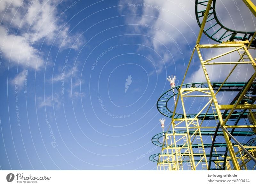
{"type": "Polygon", "coordinates": [[[64,15],[72,6],[59,10],[58,4],[57,0],[0,2],[0,40],[5,37],[3,56],[10,59],[11,66],[19,63],[19,66],[24,67],[29,58],[29,67],[40,69],[45,62],[44,53],[36,46],[43,41],[61,47],[62,50],[78,50],[84,43],[83,35],[69,33],[68,24],[63,27],[64,15]],[[8,35],[5,35],[6,29],[9,29],[8,35]]]}

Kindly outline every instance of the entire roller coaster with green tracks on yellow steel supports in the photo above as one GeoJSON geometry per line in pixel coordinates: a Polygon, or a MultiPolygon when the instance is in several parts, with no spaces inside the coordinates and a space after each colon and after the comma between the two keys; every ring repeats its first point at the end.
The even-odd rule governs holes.
{"type": "MultiPolygon", "coordinates": [[[[256,16],[251,0],[243,2],[256,16]]],[[[152,138],[162,147],[149,157],[158,170],[256,169],[256,58],[250,53],[256,32],[225,27],[215,10],[216,0],[196,0],[200,30],[184,78],[157,100],[158,111],[171,120],[167,131],[152,138]],[[217,43],[200,44],[203,33],[217,43]],[[218,55],[206,59],[214,50],[218,55]],[[185,84],[195,58],[205,82],[185,84]],[[228,66],[226,74],[220,82],[211,82],[211,69],[218,66],[228,66]],[[247,74],[240,73],[244,67],[250,69],[247,74]]]]}

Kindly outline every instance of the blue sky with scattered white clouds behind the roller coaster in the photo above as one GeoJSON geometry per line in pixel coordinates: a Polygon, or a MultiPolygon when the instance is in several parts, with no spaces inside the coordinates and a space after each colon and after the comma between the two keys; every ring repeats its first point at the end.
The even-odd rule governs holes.
{"type": "MultiPolygon", "coordinates": [[[[238,3],[241,12],[217,4],[220,19],[255,30],[238,3]]],[[[2,0],[0,168],[156,170],[156,101],[168,75],[182,81],[199,31],[194,9],[185,0],[2,0]]],[[[186,82],[202,80],[193,63],[186,82]]]]}

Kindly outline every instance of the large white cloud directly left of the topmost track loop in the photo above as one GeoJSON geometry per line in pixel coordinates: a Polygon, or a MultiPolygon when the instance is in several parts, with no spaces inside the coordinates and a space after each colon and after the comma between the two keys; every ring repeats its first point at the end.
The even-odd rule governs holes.
{"type": "MultiPolygon", "coordinates": [[[[119,4],[125,4],[125,7],[120,8],[120,12],[122,14],[142,14],[127,16],[126,22],[141,25],[133,27],[132,32],[152,37],[152,39],[141,37],[142,44],[151,47],[164,59],[164,61],[153,60],[157,68],[156,72],[161,73],[165,65],[169,66],[173,63],[172,57],[176,59],[182,57],[186,45],[195,41],[194,31],[199,30],[197,22],[193,19],[195,17],[195,2],[192,0],[179,2],[144,0],[139,2],[141,3],[139,7],[128,6],[128,3],[138,2],[120,1],[119,4]],[[193,17],[191,17],[192,14],[193,17]]],[[[147,57],[150,58],[150,55],[147,57]]]]}

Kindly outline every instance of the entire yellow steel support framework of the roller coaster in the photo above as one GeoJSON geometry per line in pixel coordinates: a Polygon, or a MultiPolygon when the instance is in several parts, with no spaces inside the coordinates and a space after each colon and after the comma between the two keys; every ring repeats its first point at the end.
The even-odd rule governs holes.
{"type": "MultiPolygon", "coordinates": [[[[243,1],[255,15],[256,8],[252,2],[249,0],[243,1]]],[[[249,52],[255,34],[251,42],[244,40],[227,41],[218,44],[200,44],[211,4],[212,0],[209,0],[206,11],[204,12],[204,19],[197,37],[196,46],[189,60],[183,81],[178,89],[173,114],[170,116],[172,122],[168,128],[169,132],[165,132],[162,136],[163,141],[159,142],[163,145],[161,153],[157,154],[158,170],[253,170],[256,166],[256,146],[248,146],[248,144],[244,143],[243,137],[235,138],[232,135],[235,129],[239,130],[237,136],[240,134],[243,135],[241,130],[256,132],[254,112],[256,105],[254,102],[250,103],[248,99],[245,100],[244,98],[248,91],[252,89],[253,84],[255,84],[256,63],[249,52]],[[203,57],[202,51],[207,53],[207,51],[211,52],[214,49],[225,52],[209,59],[203,57]],[[183,86],[188,69],[191,66],[191,61],[195,58],[196,53],[202,66],[206,86],[196,87],[193,83],[191,87],[183,86]],[[238,58],[232,61],[223,61],[223,57],[227,55],[236,56],[238,58]],[[228,75],[223,78],[224,80],[221,81],[218,88],[214,88],[207,69],[212,69],[213,66],[227,65],[231,66],[227,73],[228,75]],[[234,77],[235,72],[235,75],[237,75],[239,71],[238,67],[243,65],[248,65],[248,68],[253,69],[251,77],[244,83],[244,86],[240,89],[234,102],[229,105],[221,104],[220,101],[218,102],[217,97],[221,96],[221,91],[223,92],[223,88],[226,86],[228,80],[234,77]],[[186,106],[185,104],[187,100],[191,99],[201,100],[201,102],[199,101],[200,107],[192,116],[188,114],[191,107],[187,108],[188,105],[186,106]],[[180,114],[179,117],[177,117],[176,114],[176,110],[179,109],[178,107],[182,110],[182,114],[180,114]],[[248,125],[241,122],[238,124],[236,122],[237,117],[234,120],[234,115],[237,111],[241,111],[241,117],[248,112],[247,116],[251,118],[251,124],[248,125]],[[210,117],[208,117],[208,113],[211,113],[210,117]],[[232,118],[233,121],[231,122],[232,118]],[[220,130],[218,130],[218,128],[220,128],[220,130]],[[223,136],[223,144],[214,146],[215,138],[213,137],[212,131],[216,131],[215,136],[218,132],[223,136]],[[207,137],[203,137],[205,134],[207,134],[207,137]],[[206,141],[209,140],[212,142],[211,146],[205,144],[206,141]],[[225,147],[227,151],[220,153],[220,147],[225,147]]],[[[246,74],[239,73],[239,75],[245,76],[246,74]]],[[[237,83],[234,82],[234,87],[236,87],[236,84],[237,83]]],[[[164,100],[159,101],[164,102],[164,100]]],[[[166,106],[167,102],[161,104],[166,106]]],[[[164,112],[169,113],[169,110],[167,109],[167,111],[164,112]]],[[[240,116],[238,116],[238,118],[240,116]]]]}

